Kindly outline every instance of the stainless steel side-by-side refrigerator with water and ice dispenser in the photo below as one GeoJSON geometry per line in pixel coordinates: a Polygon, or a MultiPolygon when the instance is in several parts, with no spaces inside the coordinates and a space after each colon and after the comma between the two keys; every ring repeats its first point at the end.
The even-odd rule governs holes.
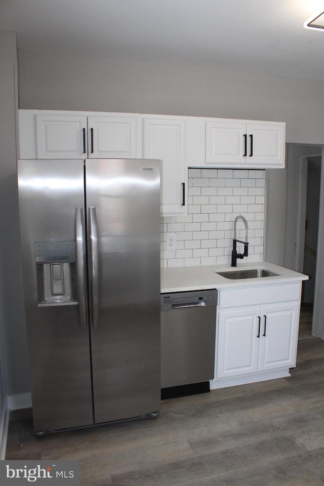
{"type": "Polygon", "coordinates": [[[36,433],[160,409],[159,169],[18,160],[36,433]]]}

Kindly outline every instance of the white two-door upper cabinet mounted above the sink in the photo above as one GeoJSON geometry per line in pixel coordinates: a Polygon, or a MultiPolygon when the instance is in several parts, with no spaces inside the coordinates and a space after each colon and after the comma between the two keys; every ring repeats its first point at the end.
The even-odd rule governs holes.
{"type": "Polygon", "coordinates": [[[205,167],[284,168],[285,142],[285,123],[210,119],[205,167]]]}

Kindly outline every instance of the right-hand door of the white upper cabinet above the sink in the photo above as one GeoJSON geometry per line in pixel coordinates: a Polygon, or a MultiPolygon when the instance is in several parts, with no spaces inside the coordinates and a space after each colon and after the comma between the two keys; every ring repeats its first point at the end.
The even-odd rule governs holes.
{"type": "Polygon", "coordinates": [[[285,166],[285,124],[248,123],[247,163],[258,167],[285,166]]]}

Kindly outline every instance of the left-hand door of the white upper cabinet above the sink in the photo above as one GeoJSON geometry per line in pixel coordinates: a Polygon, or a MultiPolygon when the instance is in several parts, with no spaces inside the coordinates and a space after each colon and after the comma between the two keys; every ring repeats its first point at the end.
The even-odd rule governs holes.
{"type": "Polygon", "coordinates": [[[206,164],[245,165],[247,124],[240,121],[206,121],[206,164]]]}

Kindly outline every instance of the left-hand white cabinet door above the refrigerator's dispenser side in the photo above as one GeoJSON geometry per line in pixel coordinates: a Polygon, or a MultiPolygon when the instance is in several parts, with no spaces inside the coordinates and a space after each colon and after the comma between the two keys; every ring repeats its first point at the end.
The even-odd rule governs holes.
{"type": "Polygon", "coordinates": [[[87,154],[87,117],[36,114],[37,158],[83,158],[87,154]]]}

